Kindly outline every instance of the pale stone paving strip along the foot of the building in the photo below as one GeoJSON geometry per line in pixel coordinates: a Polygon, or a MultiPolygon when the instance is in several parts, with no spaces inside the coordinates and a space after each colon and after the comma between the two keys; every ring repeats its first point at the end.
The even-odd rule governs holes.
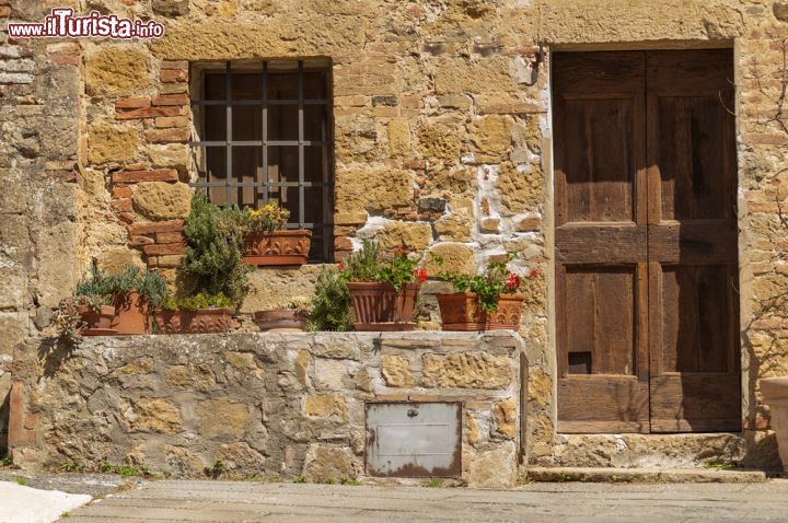
{"type": "Polygon", "coordinates": [[[530,484],[518,490],[152,481],[65,522],[788,521],[788,480],[761,484],[530,484]]]}

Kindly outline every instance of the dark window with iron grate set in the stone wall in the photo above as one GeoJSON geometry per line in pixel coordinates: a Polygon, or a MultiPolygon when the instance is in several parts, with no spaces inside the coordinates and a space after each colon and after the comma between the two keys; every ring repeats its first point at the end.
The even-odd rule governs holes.
{"type": "MultiPolygon", "coordinates": [[[[292,63],[292,62],[291,62],[292,63]]],[[[328,68],[318,68],[310,70],[312,73],[321,73],[325,85],[321,97],[306,97],[304,94],[305,72],[304,61],[298,60],[296,70],[286,70],[286,73],[292,75],[296,73],[296,93],[297,96],[270,96],[269,89],[271,79],[281,79],[281,70],[270,71],[270,61],[263,61],[258,68],[248,69],[244,67],[242,70],[234,70],[230,61],[224,62],[223,72],[221,69],[206,69],[202,71],[201,89],[198,91],[200,97],[192,100],[193,111],[199,114],[195,118],[199,124],[198,139],[189,140],[193,151],[200,152],[199,156],[204,159],[202,164],[198,161],[198,178],[189,185],[208,191],[209,199],[218,205],[240,205],[259,207],[268,204],[271,199],[277,199],[282,207],[290,210],[290,221],[285,225],[286,229],[310,229],[313,231],[313,247],[310,252],[311,262],[331,262],[333,257],[333,188],[334,182],[332,176],[333,164],[333,136],[331,125],[331,97],[328,68]],[[253,73],[255,78],[260,77],[259,89],[255,88],[254,92],[259,92],[259,96],[236,96],[235,83],[240,82],[241,75],[253,73]],[[207,75],[212,74],[213,80],[217,77],[223,77],[224,96],[221,100],[208,95],[207,75]],[[277,77],[279,74],[279,77],[277,77]],[[239,100],[242,98],[242,100],[239,100]],[[210,131],[217,135],[217,111],[223,107],[223,137],[206,136],[210,131]],[[297,109],[297,135],[294,137],[282,137],[281,132],[271,136],[271,121],[277,124],[277,119],[285,118],[285,112],[288,107],[297,109]],[[320,137],[306,137],[304,113],[320,111],[317,117],[321,125],[314,126],[315,118],[312,113],[310,125],[320,127],[320,137]],[[255,109],[259,108],[259,113],[255,109]],[[212,112],[209,114],[209,112],[212,112]],[[239,112],[234,115],[234,112],[239,112]],[[274,114],[271,114],[274,112],[274,114]],[[259,116],[253,116],[258,114],[259,116]],[[245,124],[250,123],[250,118],[256,118],[253,123],[255,129],[259,128],[259,136],[250,139],[248,136],[237,135],[237,127],[233,125],[233,116],[240,116],[245,124]],[[271,118],[273,117],[273,118],[271,118]],[[322,118],[322,119],[321,119],[322,118]],[[235,139],[239,138],[239,139],[235,139]],[[287,138],[287,139],[283,139],[287,138]],[[315,139],[317,138],[317,139],[315,139]],[[243,149],[242,149],[243,148],[243,149]],[[248,165],[243,160],[248,160],[251,150],[258,150],[255,173],[251,173],[248,165]],[[306,152],[309,150],[311,164],[320,163],[318,168],[311,168],[309,176],[306,168],[306,152]],[[294,152],[294,154],[291,153],[294,152]],[[243,154],[241,154],[243,152],[243,154]],[[294,159],[287,165],[286,172],[283,160],[287,155],[294,159]],[[223,153],[223,154],[222,154],[223,153]],[[220,156],[224,156],[220,159],[220,156]],[[244,156],[244,158],[240,158],[244,156]],[[274,158],[276,156],[276,158],[274,158]],[[318,162],[315,162],[315,158],[318,162]],[[239,161],[241,160],[241,162],[239,161]],[[278,162],[278,163],[277,163],[278,162]],[[223,172],[217,163],[223,163],[223,172]],[[215,168],[209,168],[211,165],[215,168]],[[235,171],[233,171],[235,168],[235,171]],[[236,174],[237,171],[241,174],[236,174]],[[277,171],[276,178],[271,179],[270,171],[277,171]],[[309,194],[308,194],[309,191],[309,194]],[[316,193],[320,193],[320,201],[315,200],[316,193]],[[212,195],[223,195],[223,197],[212,197],[212,195]],[[252,194],[253,196],[250,196],[252,194]],[[278,198],[275,196],[278,194],[278,198]],[[296,201],[292,201],[296,199],[296,201]],[[223,200],[223,201],[222,201],[223,200]]],[[[195,65],[192,65],[192,72],[195,65]]],[[[190,78],[196,78],[190,74],[190,78]]],[[[311,79],[313,77],[310,77],[311,79]]],[[[215,82],[216,83],[216,82],[215,82]]],[[[248,82],[246,82],[248,84],[248,82]]],[[[312,89],[311,91],[314,91],[312,89]]],[[[320,91],[320,89],[318,89],[320,91]]],[[[219,123],[221,124],[221,123],[219,123]]],[[[291,121],[287,123],[292,125],[291,121]]],[[[248,135],[248,132],[240,132],[240,135],[248,135]]],[[[246,162],[248,163],[248,162],[246,162]]]]}

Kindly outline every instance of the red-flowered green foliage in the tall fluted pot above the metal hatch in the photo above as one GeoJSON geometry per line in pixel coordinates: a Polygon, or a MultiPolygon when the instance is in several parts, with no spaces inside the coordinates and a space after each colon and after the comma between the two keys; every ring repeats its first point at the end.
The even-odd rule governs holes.
{"type": "Polygon", "coordinates": [[[383,253],[369,240],[364,240],[360,251],[339,264],[339,270],[347,281],[389,283],[396,290],[405,283],[427,280],[427,271],[418,268],[418,259],[408,257],[401,246],[383,253]]]}

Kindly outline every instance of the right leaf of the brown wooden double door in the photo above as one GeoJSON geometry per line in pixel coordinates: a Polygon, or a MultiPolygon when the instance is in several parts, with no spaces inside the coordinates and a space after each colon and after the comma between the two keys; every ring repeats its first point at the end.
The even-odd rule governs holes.
{"type": "Polygon", "coordinates": [[[732,53],[646,62],[651,431],[738,431],[732,53]]]}

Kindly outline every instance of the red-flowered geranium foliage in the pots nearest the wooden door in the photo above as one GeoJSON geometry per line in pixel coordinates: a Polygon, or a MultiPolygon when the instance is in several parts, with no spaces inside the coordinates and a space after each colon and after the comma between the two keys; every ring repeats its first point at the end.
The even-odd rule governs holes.
{"type": "MultiPolygon", "coordinates": [[[[479,307],[487,313],[498,309],[498,298],[501,294],[517,294],[522,287],[522,278],[510,272],[507,264],[514,256],[509,255],[507,262],[490,262],[482,275],[455,275],[452,272],[441,272],[439,278],[450,281],[457,292],[473,292],[476,294],[479,307]]],[[[436,257],[440,264],[442,260],[436,257]]],[[[532,270],[530,278],[536,278],[538,272],[532,270]]]]}

